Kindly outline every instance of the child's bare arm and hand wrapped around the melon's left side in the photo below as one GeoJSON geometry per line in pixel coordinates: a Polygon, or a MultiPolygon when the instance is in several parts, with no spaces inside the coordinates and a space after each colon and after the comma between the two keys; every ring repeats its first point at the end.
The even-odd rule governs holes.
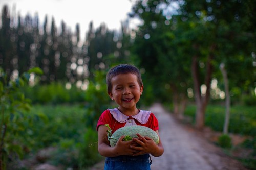
{"type": "Polygon", "coordinates": [[[131,148],[131,145],[136,144],[133,140],[122,141],[125,136],[121,136],[115,147],[110,147],[110,142],[107,137],[106,130],[108,127],[101,125],[98,128],[98,151],[100,155],[105,157],[115,157],[119,155],[133,155],[138,150],[131,148]]]}

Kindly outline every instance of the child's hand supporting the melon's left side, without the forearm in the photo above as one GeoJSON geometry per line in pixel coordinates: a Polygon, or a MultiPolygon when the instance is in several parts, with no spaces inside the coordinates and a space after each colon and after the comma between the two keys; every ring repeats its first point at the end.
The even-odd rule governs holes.
{"type": "Polygon", "coordinates": [[[116,145],[115,145],[115,152],[118,153],[118,155],[134,155],[138,153],[140,150],[133,147],[139,147],[138,143],[135,142],[134,140],[129,140],[129,141],[123,141],[123,138],[125,136],[121,136],[116,145]]]}

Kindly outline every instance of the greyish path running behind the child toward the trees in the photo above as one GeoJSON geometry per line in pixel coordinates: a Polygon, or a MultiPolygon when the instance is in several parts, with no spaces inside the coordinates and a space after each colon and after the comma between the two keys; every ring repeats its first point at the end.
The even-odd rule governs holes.
{"type": "MultiPolygon", "coordinates": [[[[160,104],[154,104],[148,110],[159,120],[159,133],[164,146],[161,157],[151,156],[152,170],[246,170],[220,148],[178,123],[160,104]]],[[[104,169],[104,162],[90,170],[99,169],[104,169]]]]}

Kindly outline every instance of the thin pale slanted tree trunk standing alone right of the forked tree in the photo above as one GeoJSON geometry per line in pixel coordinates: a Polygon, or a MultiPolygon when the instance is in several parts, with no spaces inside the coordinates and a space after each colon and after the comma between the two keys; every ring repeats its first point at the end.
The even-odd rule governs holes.
{"type": "Polygon", "coordinates": [[[230,95],[229,95],[227,71],[225,70],[225,64],[224,63],[221,63],[220,69],[221,69],[223,79],[224,79],[225,94],[226,94],[226,115],[225,115],[225,123],[224,123],[224,127],[223,127],[223,133],[228,134],[229,116],[230,116],[230,113],[229,113],[230,95]]]}

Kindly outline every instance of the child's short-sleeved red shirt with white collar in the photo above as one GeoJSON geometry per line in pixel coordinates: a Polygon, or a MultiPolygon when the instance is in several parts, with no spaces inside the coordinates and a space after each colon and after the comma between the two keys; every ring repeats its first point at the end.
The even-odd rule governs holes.
{"type": "Polygon", "coordinates": [[[109,124],[112,129],[112,134],[119,128],[130,125],[141,125],[151,128],[156,131],[159,129],[158,120],[150,111],[139,110],[135,116],[126,116],[121,113],[117,108],[105,110],[99,117],[96,129],[100,125],[109,124]]]}

